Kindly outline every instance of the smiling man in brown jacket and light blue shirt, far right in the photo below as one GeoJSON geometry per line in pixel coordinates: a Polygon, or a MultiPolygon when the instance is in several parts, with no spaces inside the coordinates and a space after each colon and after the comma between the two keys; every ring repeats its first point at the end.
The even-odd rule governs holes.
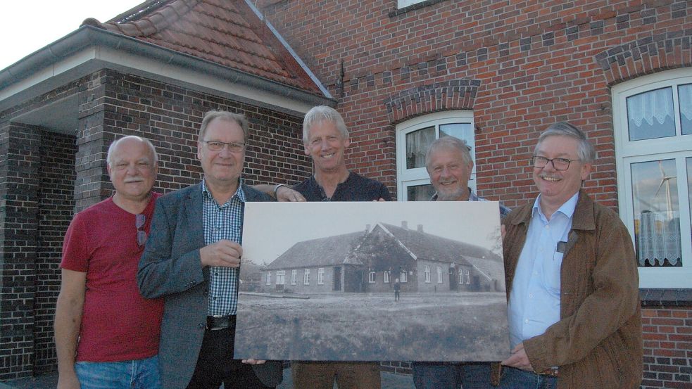
{"type": "Polygon", "coordinates": [[[632,240],[580,191],[596,157],[566,122],[531,158],[539,196],[504,224],[511,354],[501,388],[638,388],[641,310],[632,240]]]}

